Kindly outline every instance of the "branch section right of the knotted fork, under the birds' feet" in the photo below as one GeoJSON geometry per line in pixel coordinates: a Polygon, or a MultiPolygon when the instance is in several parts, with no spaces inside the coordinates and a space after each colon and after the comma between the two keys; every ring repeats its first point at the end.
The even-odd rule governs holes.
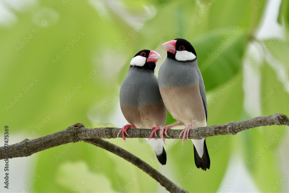
{"type": "MultiPolygon", "coordinates": [[[[274,115],[255,117],[253,119],[244,120],[240,122],[231,121],[222,125],[214,125],[207,127],[199,127],[191,129],[188,136],[189,139],[202,139],[204,137],[211,137],[216,135],[236,135],[238,132],[250,128],[269,125],[288,125],[289,118],[286,115],[276,113],[274,115]]],[[[110,139],[116,138],[120,128],[104,127],[86,130],[77,130],[77,136],[84,137],[85,139],[103,138],[110,139]]],[[[164,135],[164,138],[179,139],[179,134],[182,130],[171,129],[168,130],[168,137],[164,135]]],[[[149,138],[151,135],[151,129],[128,129],[127,134],[129,138],[149,138]]],[[[157,136],[153,135],[152,138],[160,138],[160,130],[157,132],[157,136]]],[[[122,137],[120,134],[118,137],[122,137]]],[[[82,139],[82,138],[81,138],[82,139]]]]}

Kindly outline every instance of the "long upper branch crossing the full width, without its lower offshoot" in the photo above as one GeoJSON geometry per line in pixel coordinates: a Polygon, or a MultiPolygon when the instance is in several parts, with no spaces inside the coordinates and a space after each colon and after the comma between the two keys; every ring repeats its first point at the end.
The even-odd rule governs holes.
{"type": "MultiPolygon", "coordinates": [[[[236,133],[249,128],[255,128],[259,126],[268,125],[288,125],[289,118],[280,113],[274,115],[255,117],[253,119],[244,120],[240,122],[229,122],[222,125],[214,125],[207,127],[199,127],[190,130],[189,139],[202,139],[204,137],[210,137],[215,135],[236,135],[236,133]]],[[[96,138],[116,138],[120,128],[105,127],[105,128],[85,128],[83,124],[76,123],[62,131],[39,137],[36,139],[25,139],[17,144],[9,146],[9,156],[4,156],[4,146],[0,147],[0,159],[13,158],[13,157],[25,157],[32,155],[36,152],[46,150],[55,146],[59,146],[67,143],[75,143],[77,141],[84,141],[84,139],[96,139],[96,138]]],[[[168,130],[168,136],[165,138],[178,139],[182,130],[172,129],[168,130]]],[[[151,129],[128,129],[127,134],[132,138],[149,138],[151,135],[151,129]]],[[[157,132],[158,136],[153,135],[153,138],[160,138],[160,131],[157,132]]],[[[119,137],[122,137],[119,135],[119,137]]]]}

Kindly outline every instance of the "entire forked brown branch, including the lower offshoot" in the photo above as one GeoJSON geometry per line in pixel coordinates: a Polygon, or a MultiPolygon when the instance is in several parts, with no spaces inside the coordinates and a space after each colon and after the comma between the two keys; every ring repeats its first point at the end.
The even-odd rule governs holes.
{"type": "MultiPolygon", "coordinates": [[[[214,125],[208,127],[200,127],[190,130],[190,139],[202,139],[204,137],[210,137],[215,135],[236,135],[236,133],[246,130],[249,128],[255,128],[259,126],[268,125],[288,125],[289,118],[280,113],[274,115],[255,117],[253,119],[240,121],[240,122],[229,122],[222,125],[214,125]]],[[[99,138],[116,138],[120,128],[85,128],[83,124],[76,123],[62,131],[39,137],[37,139],[28,140],[25,139],[17,144],[9,146],[9,153],[4,155],[4,147],[0,147],[0,159],[13,158],[13,157],[25,157],[32,155],[33,153],[59,146],[66,143],[75,143],[77,141],[85,141],[90,144],[104,148],[116,155],[123,157],[127,161],[133,163],[135,166],[142,169],[144,172],[149,174],[155,180],[157,180],[162,186],[164,186],[169,191],[184,191],[183,189],[177,187],[167,178],[162,176],[159,172],[154,170],[147,163],[143,162],[141,159],[130,154],[129,152],[123,150],[122,148],[109,143],[108,141],[99,138]],[[153,171],[153,172],[152,172],[153,171]]],[[[132,138],[149,138],[151,134],[151,129],[129,129],[127,133],[129,137],[132,138]]],[[[168,136],[165,138],[177,139],[182,130],[168,130],[168,136]]],[[[157,133],[158,137],[153,135],[153,138],[160,138],[160,131],[157,133]]],[[[121,135],[119,137],[122,137],[121,135]]]]}

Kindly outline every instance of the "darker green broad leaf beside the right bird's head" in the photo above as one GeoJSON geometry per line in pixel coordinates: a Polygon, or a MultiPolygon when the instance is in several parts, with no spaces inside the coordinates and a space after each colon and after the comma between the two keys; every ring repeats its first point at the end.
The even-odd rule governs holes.
{"type": "Polygon", "coordinates": [[[211,31],[194,41],[206,91],[227,82],[242,69],[247,41],[246,31],[234,26],[211,31]]]}

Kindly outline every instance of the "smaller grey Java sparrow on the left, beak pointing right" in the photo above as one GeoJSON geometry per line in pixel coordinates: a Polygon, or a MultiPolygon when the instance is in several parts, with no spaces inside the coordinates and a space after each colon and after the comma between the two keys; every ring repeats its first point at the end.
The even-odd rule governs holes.
{"type": "MultiPolygon", "coordinates": [[[[120,89],[123,116],[130,125],[119,131],[125,140],[128,128],[160,128],[166,124],[166,107],[162,101],[158,79],[154,74],[160,54],[144,49],[130,62],[130,67],[120,89]]],[[[159,162],[166,164],[166,151],[162,139],[149,140],[159,162]]],[[[126,141],[125,141],[126,142],[126,141]]]]}

